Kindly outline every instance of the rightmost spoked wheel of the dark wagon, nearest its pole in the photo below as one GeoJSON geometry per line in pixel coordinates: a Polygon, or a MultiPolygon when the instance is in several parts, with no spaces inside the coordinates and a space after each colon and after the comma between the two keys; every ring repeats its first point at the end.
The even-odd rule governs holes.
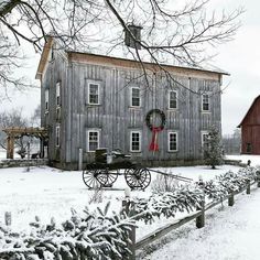
{"type": "Polygon", "coordinates": [[[129,187],[144,189],[151,182],[151,174],[148,169],[128,169],[124,171],[124,178],[129,187]]]}

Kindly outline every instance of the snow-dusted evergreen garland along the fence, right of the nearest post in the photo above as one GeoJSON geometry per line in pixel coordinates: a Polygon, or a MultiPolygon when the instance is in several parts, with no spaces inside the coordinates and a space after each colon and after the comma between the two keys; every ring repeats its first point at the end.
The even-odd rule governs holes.
{"type": "Polygon", "coordinates": [[[137,198],[134,202],[137,217],[145,223],[154,217],[174,217],[177,212],[192,212],[202,204],[202,201],[219,201],[230,193],[239,192],[249,181],[257,178],[256,167],[241,169],[238,173],[231,171],[216,176],[205,183],[176,187],[173,192],[158,192],[149,198],[137,198]]]}

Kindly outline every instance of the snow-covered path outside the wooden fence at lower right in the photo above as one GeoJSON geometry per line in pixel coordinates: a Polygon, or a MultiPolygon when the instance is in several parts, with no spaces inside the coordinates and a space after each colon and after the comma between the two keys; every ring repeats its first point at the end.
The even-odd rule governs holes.
{"type": "Polygon", "coordinates": [[[232,207],[225,202],[224,208],[208,212],[204,228],[196,229],[193,221],[165,240],[169,243],[142,259],[259,260],[260,188],[236,196],[232,207]]]}

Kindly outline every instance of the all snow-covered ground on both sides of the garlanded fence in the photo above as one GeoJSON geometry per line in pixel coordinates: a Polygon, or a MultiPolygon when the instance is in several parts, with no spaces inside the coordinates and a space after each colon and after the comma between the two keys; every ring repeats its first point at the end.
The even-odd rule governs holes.
{"type": "MultiPolygon", "coordinates": [[[[260,156],[228,158],[242,160],[242,162],[250,159],[252,165],[260,164],[260,156]]],[[[164,169],[164,171],[197,181],[198,176],[210,180],[217,174],[229,170],[237,172],[238,169],[237,166],[224,165],[217,170],[210,170],[207,166],[195,166],[172,167],[164,169]]],[[[152,173],[152,182],[156,174],[152,173]]],[[[82,212],[86,205],[90,208],[97,206],[102,208],[107,202],[110,202],[111,209],[118,212],[127,187],[123,176],[119,176],[112,189],[101,192],[101,203],[94,204],[91,203],[94,191],[89,191],[85,186],[79,171],[61,171],[47,166],[31,167],[30,172],[23,167],[2,169],[0,170],[0,221],[4,220],[6,212],[11,212],[12,228],[24,230],[28,224],[34,220],[35,216],[40,216],[43,224],[48,224],[51,217],[61,223],[71,217],[72,208],[82,212]]],[[[145,192],[131,192],[132,197],[147,197],[150,194],[150,188],[147,188],[145,192]]],[[[239,248],[245,241],[243,236],[247,235],[247,238],[252,239],[250,236],[253,237],[257,232],[260,234],[259,201],[260,191],[253,192],[250,196],[240,195],[232,208],[225,207],[220,212],[214,209],[217,212],[209,216],[205,228],[198,230],[194,223],[184,226],[177,232],[171,235],[173,238],[170,236],[170,240],[174,240],[173,243],[167,243],[160,251],[147,256],[145,259],[260,259],[260,253],[259,258],[242,258],[248,253],[247,247],[242,247],[241,253],[238,254],[239,248]],[[236,240],[236,236],[238,240],[236,240]],[[225,253],[221,254],[224,257],[219,254],[220,252],[217,252],[221,249],[225,250],[225,253]]],[[[165,220],[161,219],[152,227],[149,225],[140,226],[137,229],[137,237],[143,237],[160,225],[165,225],[165,220]]],[[[248,250],[251,250],[251,247],[248,247],[248,250]]],[[[254,252],[256,250],[251,251],[254,252]]],[[[256,257],[256,253],[253,257],[256,257]]]]}

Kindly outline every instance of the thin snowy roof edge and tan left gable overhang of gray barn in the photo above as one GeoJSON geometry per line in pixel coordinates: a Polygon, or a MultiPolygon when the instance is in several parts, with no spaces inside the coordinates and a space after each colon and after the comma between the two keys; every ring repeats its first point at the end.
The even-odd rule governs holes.
{"type": "MultiPolygon", "coordinates": [[[[40,59],[40,63],[39,63],[39,67],[37,67],[37,72],[36,72],[36,78],[40,79],[41,78],[41,75],[43,74],[44,72],[44,67],[46,65],[46,62],[47,62],[47,56],[51,52],[51,48],[52,48],[52,45],[54,43],[54,40],[52,37],[50,37],[50,41],[47,41],[44,45],[44,48],[43,48],[43,52],[42,52],[42,55],[41,55],[41,59],[40,59]]],[[[129,58],[127,56],[126,58],[126,55],[112,55],[112,56],[109,56],[109,55],[102,55],[102,54],[94,54],[94,53],[87,53],[87,52],[78,52],[78,51],[68,51],[68,50],[65,50],[65,52],[68,54],[68,55],[82,55],[82,56],[95,56],[97,58],[102,58],[102,59],[110,59],[112,63],[113,62],[124,62],[124,64],[137,64],[139,63],[138,61],[133,59],[133,58],[129,58]]],[[[151,62],[148,62],[144,59],[143,62],[144,65],[149,65],[149,66],[155,66],[156,64],[155,63],[151,63],[151,62]]],[[[194,72],[205,72],[205,73],[214,73],[214,74],[218,74],[218,75],[230,75],[229,73],[214,66],[214,65],[205,65],[203,67],[201,66],[185,66],[185,65],[172,65],[172,64],[169,64],[169,63],[163,63],[163,64],[160,64],[160,66],[164,67],[164,68],[182,68],[182,69],[187,69],[187,71],[194,71],[194,72]]]]}

